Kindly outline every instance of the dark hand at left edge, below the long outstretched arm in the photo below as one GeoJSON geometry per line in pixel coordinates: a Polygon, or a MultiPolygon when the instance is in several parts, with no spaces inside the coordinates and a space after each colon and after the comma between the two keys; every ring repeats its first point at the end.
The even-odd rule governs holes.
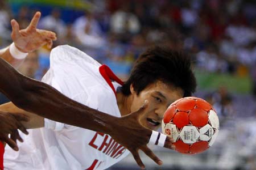
{"type": "Polygon", "coordinates": [[[23,139],[19,135],[19,130],[24,134],[28,134],[28,131],[21,124],[20,121],[28,121],[29,118],[24,114],[14,114],[0,111],[0,141],[6,142],[13,150],[18,151],[16,139],[23,142],[23,139]],[[9,138],[9,134],[11,137],[9,138]]]}

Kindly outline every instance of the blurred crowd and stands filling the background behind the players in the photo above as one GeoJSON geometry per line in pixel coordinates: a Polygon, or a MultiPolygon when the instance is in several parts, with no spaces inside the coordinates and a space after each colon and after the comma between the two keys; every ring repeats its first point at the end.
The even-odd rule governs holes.
{"type": "MultiPolygon", "coordinates": [[[[126,80],[135,59],[154,44],[191,56],[195,96],[218,113],[216,142],[199,155],[152,147],[158,167],[142,154],[147,169],[256,169],[256,1],[254,0],[0,0],[0,48],[11,43],[10,20],[26,28],[35,11],[40,29],[57,33],[53,46],[75,46],[126,80]]],[[[19,71],[41,79],[50,49],[30,53],[19,71]]],[[[0,95],[0,103],[8,101],[0,95]]],[[[132,156],[109,168],[138,169],[132,156]]]]}

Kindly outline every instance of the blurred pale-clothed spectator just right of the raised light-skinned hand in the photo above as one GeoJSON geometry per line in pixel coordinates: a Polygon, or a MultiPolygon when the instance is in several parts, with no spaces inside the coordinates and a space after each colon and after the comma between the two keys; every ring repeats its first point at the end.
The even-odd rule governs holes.
{"type": "Polygon", "coordinates": [[[38,27],[40,29],[47,29],[57,33],[58,41],[57,44],[63,44],[63,39],[67,35],[67,26],[65,22],[60,18],[61,13],[59,9],[54,8],[50,15],[43,17],[38,27]]]}

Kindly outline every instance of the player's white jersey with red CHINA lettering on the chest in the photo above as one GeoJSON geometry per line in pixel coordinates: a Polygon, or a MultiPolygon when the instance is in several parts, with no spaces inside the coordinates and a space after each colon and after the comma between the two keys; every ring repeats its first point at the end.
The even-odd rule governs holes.
{"type": "MultiPolygon", "coordinates": [[[[114,82],[114,86],[110,83],[109,86],[108,77],[102,76],[106,72],[93,58],[63,45],[52,50],[51,66],[43,82],[88,107],[121,117],[113,91],[120,85],[114,82]]],[[[19,143],[18,152],[6,147],[5,169],[106,169],[129,154],[109,135],[44,121],[44,128],[23,135],[24,142],[19,143]]]]}

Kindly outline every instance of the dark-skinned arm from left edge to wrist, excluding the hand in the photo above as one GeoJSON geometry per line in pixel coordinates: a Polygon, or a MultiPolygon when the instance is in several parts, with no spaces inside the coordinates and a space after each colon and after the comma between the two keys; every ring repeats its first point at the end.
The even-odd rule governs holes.
{"type": "Polygon", "coordinates": [[[116,117],[82,105],[48,84],[19,74],[0,59],[0,90],[17,107],[65,124],[110,133],[116,117]]]}

